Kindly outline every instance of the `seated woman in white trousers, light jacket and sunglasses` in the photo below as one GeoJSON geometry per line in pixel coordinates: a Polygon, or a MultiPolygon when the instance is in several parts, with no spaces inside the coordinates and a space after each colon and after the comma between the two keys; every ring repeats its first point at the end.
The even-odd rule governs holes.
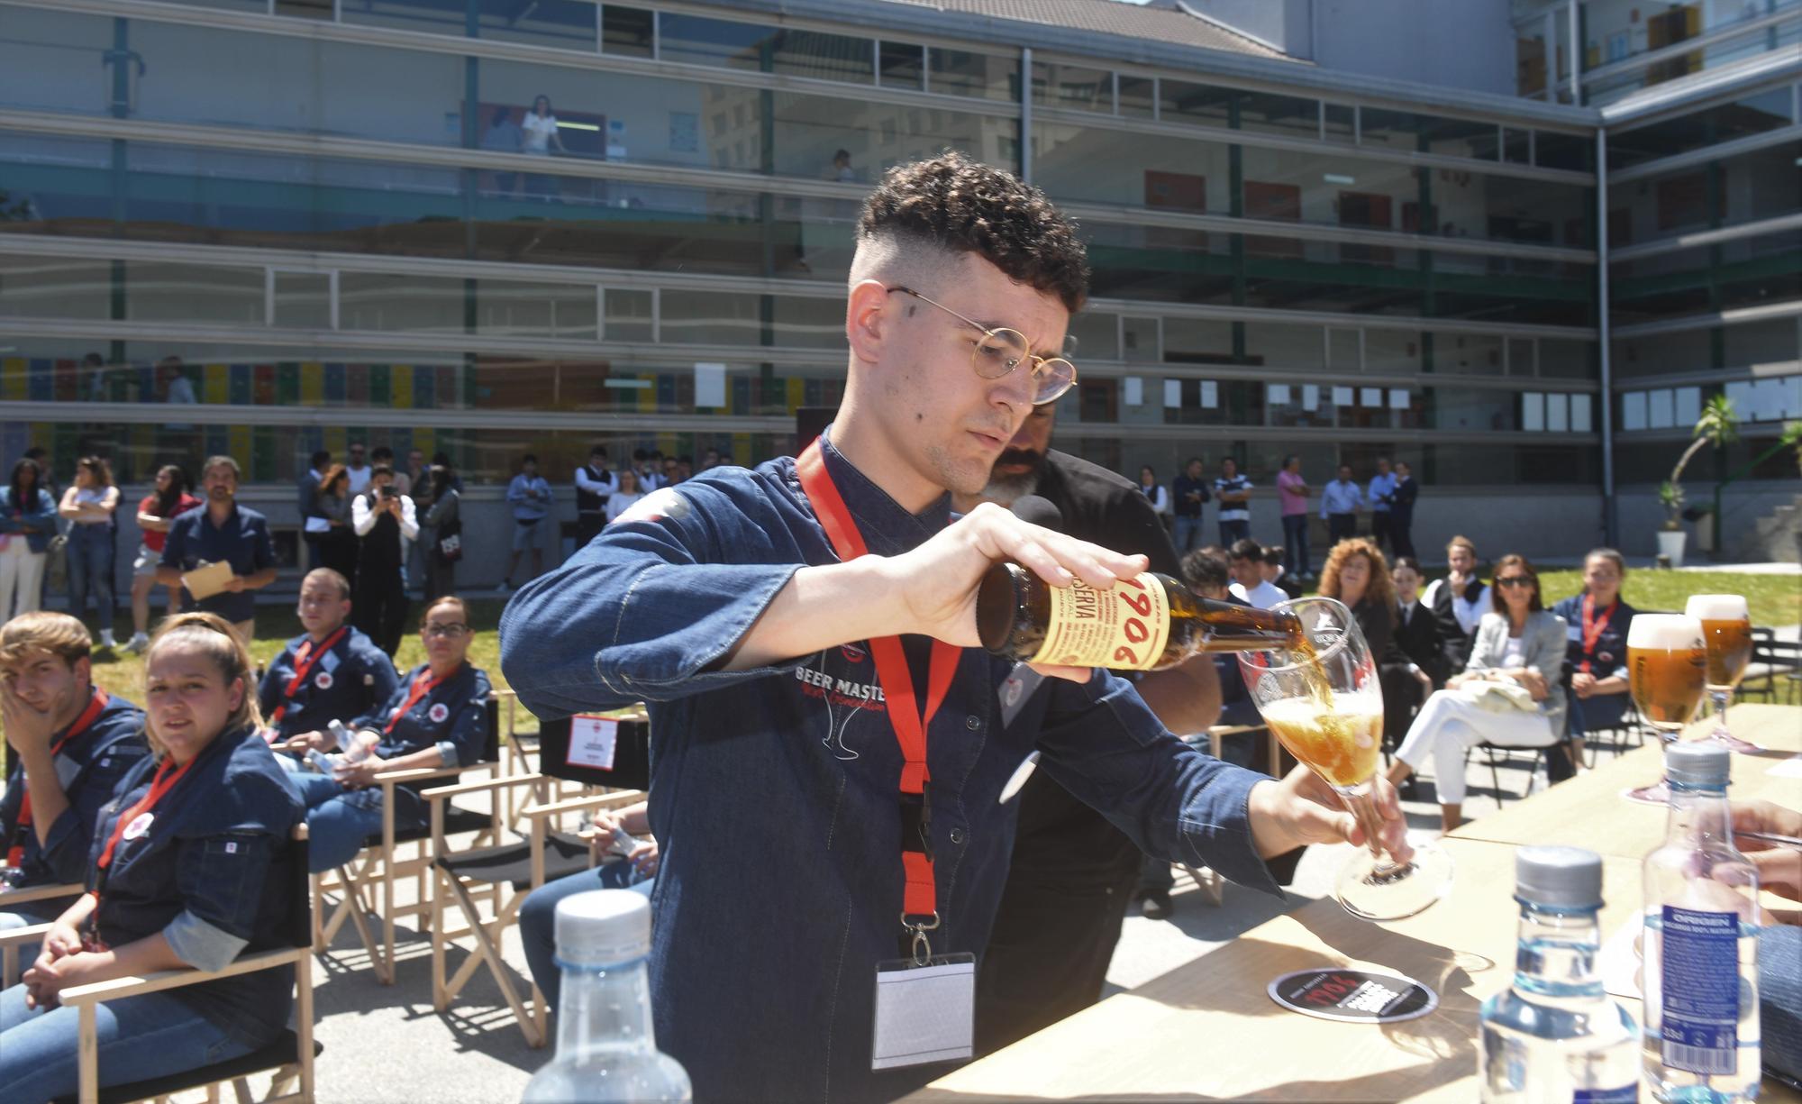
{"type": "Polygon", "coordinates": [[[1463,675],[1427,698],[1389,765],[1389,781],[1400,785],[1433,758],[1445,832],[1461,823],[1465,754],[1474,745],[1552,747],[1564,738],[1564,619],[1539,601],[1539,575],[1524,556],[1496,563],[1490,608],[1463,675]],[[1515,693],[1485,693],[1485,684],[1519,687],[1532,707],[1521,707],[1515,693]]]}

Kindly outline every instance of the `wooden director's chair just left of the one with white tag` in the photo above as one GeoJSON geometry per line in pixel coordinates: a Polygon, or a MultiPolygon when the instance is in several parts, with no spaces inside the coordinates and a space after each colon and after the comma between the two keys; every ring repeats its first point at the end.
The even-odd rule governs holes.
{"type": "MultiPolygon", "coordinates": [[[[461,767],[436,767],[418,770],[387,770],[375,776],[375,785],[382,787],[382,830],[364,841],[362,851],[335,871],[321,871],[312,877],[314,884],[314,951],[324,954],[332,940],[350,920],[369,952],[369,963],[382,985],[395,983],[395,922],[404,916],[427,916],[431,913],[431,826],[400,828],[395,824],[395,788],[402,783],[425,783],[434,779],[460,779],[470,770],[499,772],[501,732],[499,704],[488,698],[488,736],[483,743],[481,761],[461,767]],[[411,846],[411,853],[402,853],[411,846]],[[413,879],[413,904],[395,900],[395,884],[413,879]],[[377,938],[371,922],[380,922],[382,933],[377,938]]],[[[443,815],[443,835],[474,835],[470,846],[483,846],[499,841],[501,821],[494,814],[460,808],[454,805],[434,810],[443,815]]]]}

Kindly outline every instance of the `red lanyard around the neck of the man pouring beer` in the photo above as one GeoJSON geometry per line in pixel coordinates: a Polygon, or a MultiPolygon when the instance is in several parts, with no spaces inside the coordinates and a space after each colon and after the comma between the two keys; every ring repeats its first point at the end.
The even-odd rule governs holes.
{"type": "MultiPolygon", "coordinates": [[[[865,556],[863,536],[858,523],[845,509],[845,500],[833,483],[833,473],[825,469],[820,442],[815,440],[795,462],[800,474],[800,487],[807,492],[820,527],[825,529],[833,550],[842,561],[865,556]]],[[[951,676],[957,675],[957,662],[962,649],[944,640],[932,642],[932,667],[926,676],[926,707],[921,711],[914,695],[914,671],[908,667],[906,653],[901,649],[901,637],[879,637],[870,640],[870,653],[876,657],[876,678],[883,685],[883,698],[888,702],[888,723],[894,725],[896,743],[901,745],[901,869],[906,877],[901,911],[906,916],[919,916],[921,924],[912,925],[915,934],[939,925],[939,888],[932,873],[932,799],[926,792],[930,774],[926,770],[926,729],[932,727],[933,714],[944,704],[946,691],[951,689],[951,676]],[[926,922],[930,918],[930,924],[926,922]]]]}

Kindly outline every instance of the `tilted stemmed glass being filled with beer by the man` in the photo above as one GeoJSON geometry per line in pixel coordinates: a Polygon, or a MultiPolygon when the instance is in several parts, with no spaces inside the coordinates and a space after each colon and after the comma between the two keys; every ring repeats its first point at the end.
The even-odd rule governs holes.
{"type": "Polygon", "coordinates": [[[1451,889],[1452,860],[1434,844],[1416,846],[1406,862],[1382,848],[1382,684],[1370,644],[1335,599],[1296,599],[1274,610],[1301,619],[1303,646],[1242,651],[1240,669],[1276,738],[1339,794],[1364,828],[1368,846],[1341,868],[1335,897],[1364,920],[1413,916],[1451,889]]]}

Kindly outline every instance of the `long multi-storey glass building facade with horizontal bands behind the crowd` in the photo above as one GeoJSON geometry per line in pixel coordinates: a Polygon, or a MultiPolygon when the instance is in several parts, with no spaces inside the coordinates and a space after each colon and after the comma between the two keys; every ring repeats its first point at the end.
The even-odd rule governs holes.
{"type": "MultiPolygon", "coordinates": [[[[1593,494],[1625,399],[1602,390],[1600,238],[1624,233],[1597,225],[1602,168],[1638,251],[1611,271],[1636,296],[1616,361],[1634,312],[1746,310],[1786,263],[1795,294],[1795,229],[1706,238],[1793,211],[1793,99],[1721,112],[1757,148],[1694,193],[1716,170],[1678,164],[1681,121],[1598,166],[1593,108],[906,4],[753,7],[0,2],[0,446],[58,471],[101,449],[128,482],[223,451],[263,483],[351,438],[478,483],[526,451],[568,478],[596,440],[778,455],[842,393],[861,195],[946,146],[1081,222],[1058,440],[1117,471],[1391,455],[1429,492],[1593,494]]],[[[1741,355],[1710,327],[1706,370],[1741,355]]]]}

